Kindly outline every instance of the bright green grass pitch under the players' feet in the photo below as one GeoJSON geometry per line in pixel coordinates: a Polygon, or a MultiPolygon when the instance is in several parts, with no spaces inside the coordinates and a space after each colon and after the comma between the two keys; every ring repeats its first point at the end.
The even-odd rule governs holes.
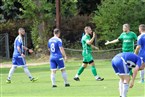
{"type": "MultiPolygon", "coordinates": [[[[81,81],[74,81],[73,77],[81,61],[71,60],[66,63],[71,87],[64,87],[61,73],[57,71],[57,88],[51,86],[49,64],[29,67],[31,73],[39,77],[34,83],[29,81],[22,68],[18,68],[13,75],[12,83],[6,84],[9,68],[1,68],[0,97],[119,97],[119,78],[115,75],[110,60],[96,60],[95,64],[98,74],[105,78],[104,81],[95,81],[89,66],[82,73],[81,81]]],[[[139,74],[134,87],[129,89],[128,97],[145,97],[144,84],[139,84],[138,81],[139,74]]]]}

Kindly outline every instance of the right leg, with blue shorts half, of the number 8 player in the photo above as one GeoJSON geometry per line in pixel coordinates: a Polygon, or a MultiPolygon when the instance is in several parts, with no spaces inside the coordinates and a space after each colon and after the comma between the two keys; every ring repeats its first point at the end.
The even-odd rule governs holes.
{"type": "Polygon", "coordinates": [[[68,80],[67,80],[67,73],[66,73],[66,70],[65,70],[65,64],[64,64],[63,59],[60,58],[56,62],[58,64],[58,68],[61,70],[61,74],[62,74],[62,78],[64,80],[65,87],[69,87],[70,84],[68,83],[68,80]]]}

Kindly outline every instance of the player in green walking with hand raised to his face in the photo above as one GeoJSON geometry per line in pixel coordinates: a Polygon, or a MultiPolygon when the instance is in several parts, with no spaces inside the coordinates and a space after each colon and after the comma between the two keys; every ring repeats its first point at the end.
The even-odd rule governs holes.
{"type": "MultiPolygon", "coordinates": [[[[81,75],[81,73],[84,71],[84,69],[87,67],[87,64],[90,64],[91,66],[91,71],[95,77],[96,80],[98,81],[102,81],[104,80],[104,78],[101,78],[97,75],[97,71],[95,68],[95,64],[94,64],[94,60],[93,60],[93,56],[92,56],[92,43],[95,39],[95,32],[93,32],[93,36],[92,38],[90,38],[89,34],[92,34],[92,29],[90,26],[86,26],[84,28],[85,31],[85,35],[82,37],[82,47],[83,47],[83,51],[82,51],[82,56],[83,56],[83,64],[82,66],[78,69],[77,74],[74,77],[74,80],[79,81],[79,76],[81,75]]],[[[93,46],[94,47],[94,46],[93,46]]],[[[98,49],[98,48],[97,48],[98,49]]]]}

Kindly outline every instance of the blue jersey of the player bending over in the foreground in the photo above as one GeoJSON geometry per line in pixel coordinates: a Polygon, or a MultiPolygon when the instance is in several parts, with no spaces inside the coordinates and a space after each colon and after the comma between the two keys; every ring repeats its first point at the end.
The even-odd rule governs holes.
{"type": "Polygon", "coordinates": [[[142,60],[139,56],[135,55],[134,53],[131,52],[123,52],[117,54],[114,58],[123,58],[124,61],[127,63],[128,61],[133,62],[135,65],[138,65],[140,67],[142,65],[142,60]]]}

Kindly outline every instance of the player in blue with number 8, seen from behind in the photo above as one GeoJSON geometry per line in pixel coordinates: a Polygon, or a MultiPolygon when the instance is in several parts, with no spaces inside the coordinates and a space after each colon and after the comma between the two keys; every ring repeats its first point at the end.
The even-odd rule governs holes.
{"type": "Polygon", "coordinates": [[[70,84],[67,81],[67,74],[65,71],[65,64],[63,60],[63,57],[66,60],[67,56],[62,46],[62,40],[59,38],[60,30],[57,28],[54,29],[53,34],[54,34],[54,37],[52,37],[48,41],[48,50],[50,51],[50,69],[51,69],[52,87],[57,87],[55,83],[55,75],[56,75],[57,68],[61,70],[65,87],[69,87],[70,84]]]}

